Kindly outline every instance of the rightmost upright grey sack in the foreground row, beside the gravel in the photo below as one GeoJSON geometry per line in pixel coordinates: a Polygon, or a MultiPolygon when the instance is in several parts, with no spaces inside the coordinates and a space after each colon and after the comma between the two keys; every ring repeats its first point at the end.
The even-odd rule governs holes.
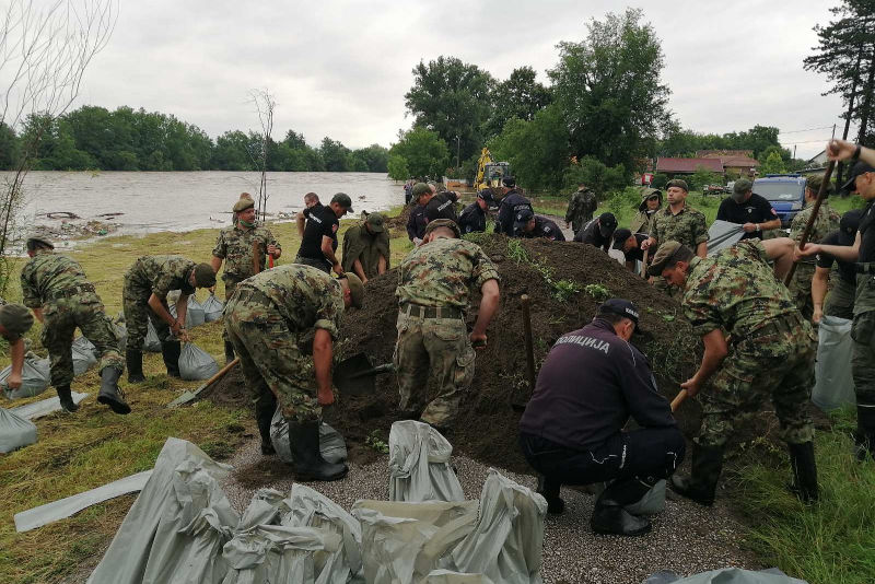
{"type": "Polygon", "coordinates": [[[541,495],[490,468],[477,525],[450,554],[452,568],[493,582],[539,584],[546,515],[541,495]]]}

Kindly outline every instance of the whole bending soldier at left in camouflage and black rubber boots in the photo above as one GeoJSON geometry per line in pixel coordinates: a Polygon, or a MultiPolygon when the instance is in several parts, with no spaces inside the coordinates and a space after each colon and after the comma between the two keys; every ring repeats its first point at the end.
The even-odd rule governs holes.
{"type": "Polygon", "coordinates": [[[79,406],[70,395],[73,381],[73,334],[77,327],[94,344],[100,359],[101,392],[97,401],[116,413],[130,413],[130,406],[118,387],[125,362],[118,352],[118,338],[94,284],[82,267],[67,256],[55,255],[55,245],[42,237],[26,242],[31,259],[21,270],[24,305],[43,323],[43,347],[51,360],[51,385],[61,407],[73,412],[79,406]]]}

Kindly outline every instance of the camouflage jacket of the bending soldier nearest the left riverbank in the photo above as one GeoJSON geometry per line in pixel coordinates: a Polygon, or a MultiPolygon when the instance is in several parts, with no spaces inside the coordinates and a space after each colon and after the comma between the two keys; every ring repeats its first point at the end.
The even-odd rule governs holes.
{"type": "Polygon", "coordinates": [[[83,295],[100,301],[82,266],[74,259],[51,252],[40,252],[24,265],[21,270],[21,294],[23,304],[28,308],[39,308],[61,294],[83,295]],[[85,287],[85,290],[77,292],[77,287],[85,287]]]}

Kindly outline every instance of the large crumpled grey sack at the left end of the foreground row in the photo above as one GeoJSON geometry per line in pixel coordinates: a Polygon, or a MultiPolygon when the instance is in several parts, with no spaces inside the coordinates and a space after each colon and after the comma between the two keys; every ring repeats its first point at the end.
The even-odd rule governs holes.
{"type": "Polygon", "coordinates": [[[240,523],[219,487],[229,470],[190,442],[167,439],[88,584],[221,583],[221,549],[240,523]]]}

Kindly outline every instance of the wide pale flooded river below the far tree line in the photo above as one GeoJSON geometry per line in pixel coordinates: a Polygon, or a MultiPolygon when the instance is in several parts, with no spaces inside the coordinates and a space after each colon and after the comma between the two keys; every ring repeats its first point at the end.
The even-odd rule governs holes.
{"type": "MultiPolygon", "coordinates": [[[[0,173],[0,177],[3,174],[0,173]]],[[[153,233],[220,227],[231,221],[240,194],[257,198],[259,173],[125,173],[31,172],[25,179],[25,205],[16,217],[20,227],[58,227],[65,221],[47,213],[74,213],[85,223],[108,221],[115,233],[153,233]],[[109,213],[121,213],[107,217],[109,213]]],[[[355,214],[404,203],[399,183],[376,173],[268,173],[268,215],[289,218],[303,208],[304,195],[316,192],[324,203],[336,192],[352,199],[355,214]]]]}

